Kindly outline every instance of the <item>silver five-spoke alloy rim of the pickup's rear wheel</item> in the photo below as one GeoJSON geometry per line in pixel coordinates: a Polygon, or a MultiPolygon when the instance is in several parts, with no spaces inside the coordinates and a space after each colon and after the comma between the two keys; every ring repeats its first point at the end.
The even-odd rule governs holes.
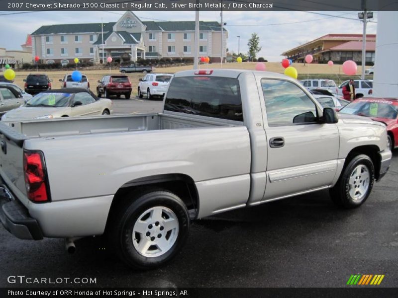
{"type": "Polygon", "coordinates": [[[156,206],[143,212],[133,227],[133,245],[144,257],[158,257],[170,250],[177,240],[179,223],[167,207],[156,206]]]}

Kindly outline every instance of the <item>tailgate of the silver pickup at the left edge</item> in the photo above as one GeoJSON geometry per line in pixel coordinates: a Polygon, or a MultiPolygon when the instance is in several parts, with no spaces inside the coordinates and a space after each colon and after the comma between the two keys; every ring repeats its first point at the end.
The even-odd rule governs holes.
{"type": "Polygon", "coordinates": [[[26,137],[0,122],[0,175],[15,197],[27,207],[23,173],[23,142],[26,137]]]}

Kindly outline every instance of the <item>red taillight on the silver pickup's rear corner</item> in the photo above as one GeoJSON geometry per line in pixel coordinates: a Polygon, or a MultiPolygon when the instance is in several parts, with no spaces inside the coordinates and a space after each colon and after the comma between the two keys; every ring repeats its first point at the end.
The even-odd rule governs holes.
{"type": "Polygon", "coordinates": [[[23,171],[25,174],[26,193],[29,200],[32,202],[50,201],[43,152],[24,150],[23,171]]]}

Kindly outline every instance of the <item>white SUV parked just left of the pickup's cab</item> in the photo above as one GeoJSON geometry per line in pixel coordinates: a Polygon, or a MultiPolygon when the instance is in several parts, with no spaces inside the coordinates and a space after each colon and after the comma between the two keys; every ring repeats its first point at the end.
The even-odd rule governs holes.
{"type": "Polygon", "coordinates": [[[145,75],[144,78],[139,79],[138,96],[142,98],[146,94],[148,99],[153,99],[155,96],[163,98],[172,76],[172,74],[145,75]]]}

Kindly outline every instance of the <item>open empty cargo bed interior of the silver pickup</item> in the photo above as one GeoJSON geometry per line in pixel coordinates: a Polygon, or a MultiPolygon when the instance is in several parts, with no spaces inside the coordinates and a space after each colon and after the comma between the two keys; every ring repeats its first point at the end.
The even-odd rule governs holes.
{"type": "Polygon", "coordinates": [[[28,120],[6,124],[26,139],[231,125],[223,120],[192,119],[162,113],[28,120]]]}

